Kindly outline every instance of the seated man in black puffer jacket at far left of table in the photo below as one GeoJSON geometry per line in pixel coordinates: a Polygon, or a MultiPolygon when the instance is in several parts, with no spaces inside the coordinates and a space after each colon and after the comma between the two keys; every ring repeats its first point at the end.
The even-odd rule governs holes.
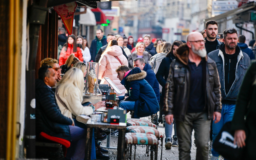
{"type": "Polygon", "coordinates": [[[74,126],[72,120],[63,116],[56,102],[52,87],[56,85],[55,72],[51,66],[43,66],[36,80],[36,135],[45,132],[50,136],[72,141],[67,159],[84,159],[86,131],[74,126]]]}

